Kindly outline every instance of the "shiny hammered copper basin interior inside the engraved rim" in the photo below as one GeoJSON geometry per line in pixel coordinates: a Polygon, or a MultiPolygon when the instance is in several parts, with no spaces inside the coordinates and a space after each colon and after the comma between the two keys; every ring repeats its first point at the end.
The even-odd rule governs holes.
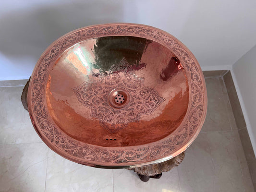
{"type": "Polygon", "coordinates": [[[189,86],[182,63],[165,46],[105,36],[63,52],[49,74],[46,97],[52,120],[70,137],[126,147],[156,142],[177,129],[188,108],[189,86]],[[111,98],[113,90],[119,92],[111,98]],[[125,105],[118,95],[120,101],[129,99],[125,105]]]}

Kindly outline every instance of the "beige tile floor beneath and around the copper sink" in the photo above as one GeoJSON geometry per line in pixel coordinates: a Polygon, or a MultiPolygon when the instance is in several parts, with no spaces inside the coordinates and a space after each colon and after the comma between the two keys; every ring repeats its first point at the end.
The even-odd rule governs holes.
{"type": "Polygon", "coordinates": [[[22,86],[0,87],[0,192],[253,192],[226,87],[206,78],[205,124],[177,168],[142,182],[126,169],[68,161],[38,137],[23,109],[22,86]]]}

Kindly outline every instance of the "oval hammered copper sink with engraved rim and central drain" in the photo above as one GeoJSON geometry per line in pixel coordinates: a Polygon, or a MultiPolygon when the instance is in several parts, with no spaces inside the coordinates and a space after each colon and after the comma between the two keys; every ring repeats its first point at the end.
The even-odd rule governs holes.
{"type": "Polygon", "coordinates": [[[28,108],[41,139],[102,168],[159,163],[182,153],[207,111],[203,73],[179,40],[140,24],[70,32],[42,54],[28,108]]]}

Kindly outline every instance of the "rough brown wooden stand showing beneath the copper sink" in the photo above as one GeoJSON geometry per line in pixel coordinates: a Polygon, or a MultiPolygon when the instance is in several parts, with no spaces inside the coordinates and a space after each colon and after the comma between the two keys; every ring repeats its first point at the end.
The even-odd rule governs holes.
{"type": "MultiPolygon", "coordinates": [[[[28,82],[25,84],[24,89],[22,91],[22,95],[21,95],[21,101],[22,101],[23,107],[27,111],[28,111],[27,91],[28,91],[29,81],[30,81],[30,78],[28,82]]],[[[162,172],[167,172],[167,171],[170,171],[172,168],[177,167],[183,161],[184,157],[185,157],[185,152],[181,153],[178,156],[173,157],[168,161],[164,161],[162,163],[143,166],[143,167],[137,167],[137,168],[127,168],[127,169],[134,170],[134,172],[138,174],[140,180],[146,182],[150,178],[159,179],[162,176],[162,172]]]]}

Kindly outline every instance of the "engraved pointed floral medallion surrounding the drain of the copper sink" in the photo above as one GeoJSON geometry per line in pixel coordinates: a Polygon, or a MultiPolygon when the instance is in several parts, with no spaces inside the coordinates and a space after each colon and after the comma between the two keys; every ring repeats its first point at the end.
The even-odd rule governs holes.
{"type": "MultiPolygon", "coordinates": [[[[98,118],[100,125],[110,133],[124,129],[130,122],[139,122],[141,115],[152,113],[165,100],[156,90],[144,86],[144,78],[122,69],[119,71],[73,88],[79,102],[91,108],[91,117],[98,118]],[[109,104],[110,92],[118,88],[126,90],[130,96],[129,103],[123,108],[113,108],[109,104]]],[[[122,96],[119,96],[116,98],[121,100],[122,96]]]]}

